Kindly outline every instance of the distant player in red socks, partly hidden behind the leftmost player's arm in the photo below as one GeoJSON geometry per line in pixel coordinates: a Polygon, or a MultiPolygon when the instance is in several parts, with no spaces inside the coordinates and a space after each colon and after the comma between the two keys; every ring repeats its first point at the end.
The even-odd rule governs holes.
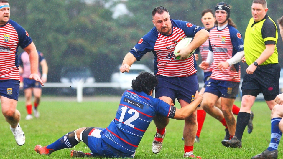
{"type": "MultiPolygon", "coordinates": [[[[42,52],[37,52],[39,57],[39,63],[42,67],[42,76],[40,74],[40,70],[38,69],[38,76],[41,76],[41,80],[43,83],[47,81],[47,72],[48,66],[45,58],[43,57],[42,52]]],[[[26,120],[32,119],[32,110],[34,113],[34,117],[39,117],[39,112],[37,107],[40,102],[41,97],[41,85],[39,82],[29,79],[31,74],[30,72],[30,62],[29,62],[29,54],[27,52],[23,52],[19,55],[19,71],[24,78],[24,97],[26,100],[26,109],[27,109],[27,116],[26,120]],[[34,95],[34,107],[32,107],[32,94],[34,95]]]]}

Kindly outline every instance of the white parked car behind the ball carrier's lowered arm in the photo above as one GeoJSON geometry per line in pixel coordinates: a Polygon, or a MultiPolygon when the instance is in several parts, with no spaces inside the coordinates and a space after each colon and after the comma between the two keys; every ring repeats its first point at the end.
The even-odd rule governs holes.
{"type": "Polygon", "coordinates": [[[118,83],[121,90],[127,90],[132,88],[132,80],[136,79],[140,72],[146,71],[154,74],[147,66],[144,64],[132,64],[131,69],[128,72],[120,72],[120,67],[117,66],[116,72],[111,76],[111,82],[118,83]]]}

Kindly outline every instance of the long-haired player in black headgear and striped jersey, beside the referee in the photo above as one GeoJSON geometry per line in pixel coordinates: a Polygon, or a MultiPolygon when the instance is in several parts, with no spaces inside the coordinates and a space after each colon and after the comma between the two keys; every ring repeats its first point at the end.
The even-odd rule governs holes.
{"type": "Polygon", "coordinates": [[[208,56],[206,61],[199,65],[201,69],[206,70],[213,63],[202,105],[205,112],[221,121],[223,125],[227,124],[229,138],[232,138],[236,129],[236,119],[232,110],[240,85],[239,62],[244,56],[243,39],[236,25],[229,18],[228,4],[218,3],[215,7],[215,17],[217,27],[210,30],[208,56]],[[214,106],[220,97],[221,109],[214,106]]]}

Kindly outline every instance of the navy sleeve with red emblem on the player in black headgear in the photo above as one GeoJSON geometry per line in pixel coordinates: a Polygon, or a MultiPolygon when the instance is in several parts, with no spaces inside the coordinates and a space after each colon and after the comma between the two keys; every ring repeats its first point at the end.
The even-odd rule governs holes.
{"type": "Polygon", "coordinates": [[[230,39],[233,45],[233,55],[235,55],[237,52],[244,50],[244,41],[242,39],[242,34],[237,29],[230,25],[228,27],[230,32],[230,39]]]}

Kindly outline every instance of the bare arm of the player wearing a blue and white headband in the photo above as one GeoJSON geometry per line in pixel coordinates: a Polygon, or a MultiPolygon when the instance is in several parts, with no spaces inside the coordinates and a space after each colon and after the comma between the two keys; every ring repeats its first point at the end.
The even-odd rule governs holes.
{"type": "Polygon", "coordinates": [[[31,75],[29,76],[29,79],[34,79],[35,81],[38,81],[43,86],[43,82],[41,81],[40,77],[37,74],[38,70],[38,54],[36,51],[36,47],[34,43],[30,43],[27,47],[24,48],[24,51],[29,54],[29,62],[30,62],[30,71],[31,75]]]}

